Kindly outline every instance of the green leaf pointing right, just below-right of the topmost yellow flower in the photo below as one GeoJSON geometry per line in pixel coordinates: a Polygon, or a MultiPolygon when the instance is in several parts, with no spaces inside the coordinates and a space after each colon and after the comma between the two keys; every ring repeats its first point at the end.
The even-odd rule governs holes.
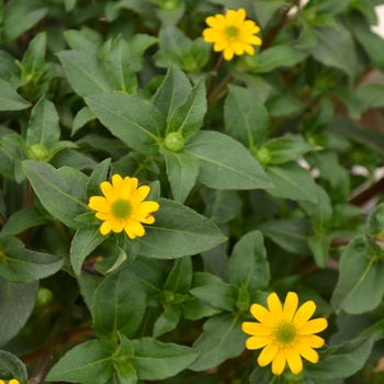
{"type": "Polygon", "coordinates": [[[257,56],[257,74],[270,72],[279,67],[291,67],[303,61],[308,54],[291,44],[280,44],[262,50],[257,56]]]}

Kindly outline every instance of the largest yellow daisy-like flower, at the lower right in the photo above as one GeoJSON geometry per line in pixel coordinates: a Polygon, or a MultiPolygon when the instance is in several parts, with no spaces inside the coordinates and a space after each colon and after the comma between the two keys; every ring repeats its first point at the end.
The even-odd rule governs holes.
{"type": "Polygon", "coordinates": [[[298,297],[294,292],[287,294],[283,307],[278,295],[271,293],[268,296],[269,310],[259,304],[253,304],[250,308],[260,323],[242,323],[242,330],[251,335],[246,347],[263,348],[258,363],[266,366],[272,362],[272,372],[275,375],[283,373],[286,362],[294,374],[302,372],[302,357],[317,363],[318,354],[313,348],[324,346],[324,339],[314,334],[327,328],[327,320],[309,320],[316,309],[313,301],[304,303],[298,309],[297,304],[298,297]]]}

